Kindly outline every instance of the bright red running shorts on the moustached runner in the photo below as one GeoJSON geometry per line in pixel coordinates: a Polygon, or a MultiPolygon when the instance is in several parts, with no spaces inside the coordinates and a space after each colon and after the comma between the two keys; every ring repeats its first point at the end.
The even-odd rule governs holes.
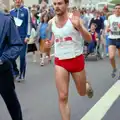
{"type": "Polygon", "coordinates": [[[63,67],[70,73],[81,72],[85,67],[84,56],[80,55],[66,60],[59,60],[59,58],[55,57],[55,65],[63,67]]]}

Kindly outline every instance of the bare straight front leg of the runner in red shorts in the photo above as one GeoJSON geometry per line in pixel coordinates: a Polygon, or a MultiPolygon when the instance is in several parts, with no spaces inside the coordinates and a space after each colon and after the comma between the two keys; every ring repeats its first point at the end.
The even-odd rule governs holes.
{"type": "Polygon", "coordinates": [[[59,107],[62,120],[70,120],[70,108],[68,105],[69,73],[60,66],[55,66],[56,87],[59,95],[59,107]]]}

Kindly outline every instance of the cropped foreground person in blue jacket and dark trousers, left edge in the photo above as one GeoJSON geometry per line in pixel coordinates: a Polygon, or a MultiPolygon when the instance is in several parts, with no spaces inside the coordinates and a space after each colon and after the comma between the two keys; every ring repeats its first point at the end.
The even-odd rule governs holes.
{"type": "Polygon", "coordinates": [[[0,4],[0,95],[12,120],[23,120],[10,62],[19,56],[22,47],[23,43],[14,20],[9,14],[1,11],[0,4]]]}

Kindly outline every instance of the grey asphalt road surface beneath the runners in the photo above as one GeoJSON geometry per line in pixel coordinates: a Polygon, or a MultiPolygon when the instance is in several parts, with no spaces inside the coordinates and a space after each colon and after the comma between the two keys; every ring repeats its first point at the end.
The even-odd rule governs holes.
{"type": "MultiPolygon", "coordinates": [[[[41,67],[39,58],[37,58],[37,63],[32,62],[31,54],[27,56],[27,61],[26,81],[16,83],[16,91],[22,106],[24,120],[61,120],[55,87],[54,65],[49,64],[41,67]]],[[[112,79],[110,76],[111,66],[108,58],[99,61],[87,61],[86,71],[87,78],[94,89],[94,97],[92,99],[80,97],[71,78],[69,93],[71,120],[80,120],[117,81],[116,78],[112,79]]],[[[103,120],[120,120],[119,113],[120,99],[113,104],[103,120]]],[[[11,120],[1,97],[0,120],[11,120]]]]}

